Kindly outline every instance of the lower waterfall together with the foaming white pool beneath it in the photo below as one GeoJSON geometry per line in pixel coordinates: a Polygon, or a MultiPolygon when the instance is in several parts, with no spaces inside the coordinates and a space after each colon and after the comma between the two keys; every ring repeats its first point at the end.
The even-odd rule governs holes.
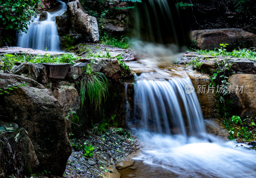
{"type": "Polygon", "coordinates": [[[132,121],[142,152],[133,159],[164,177],[255,177],[256,152],[206,134],[196,93],[187,94],[186,84],[189,77],[137,77],[132,121]]]}

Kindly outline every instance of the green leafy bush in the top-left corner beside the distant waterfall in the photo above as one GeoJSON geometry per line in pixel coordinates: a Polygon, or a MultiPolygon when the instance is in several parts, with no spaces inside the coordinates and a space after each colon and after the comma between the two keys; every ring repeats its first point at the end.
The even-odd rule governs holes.
{"type": "Polygon", "coordinates": [[[0,26],[27,32],[29,19],[36,15],[39,3],[41,0],[0,0],[0,26]]]}

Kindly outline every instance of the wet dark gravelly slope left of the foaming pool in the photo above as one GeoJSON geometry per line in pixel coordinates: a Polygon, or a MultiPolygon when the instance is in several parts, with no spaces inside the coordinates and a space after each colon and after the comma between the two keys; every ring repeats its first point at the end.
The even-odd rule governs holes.
{"type": "MultiPolygon", "coordinates": [[[[111,164],[110,173],[115,173],[115,177],[120,177],[117,169],[113,166],[121,163],[119,160],[123,157],[136,152],[139,146],[136,141],[131,142],[131,139],[134,139],[133,136],[128,138],[124,135],[128,130],[117,130],[110,128],[104,135],[94,135],[87,132],[84,135],[88,136],[80,135],[76,139],[71,139],[73,151],[68,159],[63,177],[108,177],[108,167],[111,164]],[[83,148],[89,145],[94,147],[92,157],[84,156],[86,152],[83,148]]],[[[124,163],[126,167],[131,165],[125,161],[124,163]]]]}

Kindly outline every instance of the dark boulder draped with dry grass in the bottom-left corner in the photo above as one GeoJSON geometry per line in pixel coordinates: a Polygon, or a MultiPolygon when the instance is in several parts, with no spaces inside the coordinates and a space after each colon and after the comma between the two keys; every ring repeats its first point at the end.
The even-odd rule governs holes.
{"type": "Polygon", "coordinates": [[[2,173],[12,173],[24,177],[29,171],[36,171],[39,166],[34,146],[24,128],[16,123],[0,121],[1,128],[8,129],[0,132],[0,166],[2,173]],[[17,171],[17,168],[19,171],[17,171]]]}

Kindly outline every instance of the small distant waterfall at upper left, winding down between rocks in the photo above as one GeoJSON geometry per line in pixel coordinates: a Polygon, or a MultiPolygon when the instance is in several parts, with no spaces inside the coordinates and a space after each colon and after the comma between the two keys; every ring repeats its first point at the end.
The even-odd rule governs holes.
{"type": "MultiPolygon", "coordinates": [[[[58,1],[58,0],[57,0],[58,1]]],[[[17,46],[36,50],[60,51],[60,38],[55,17],[67,11],[67,4],[60,2],[60,7],[54,12],[47,12],[47,19],[39,21],[39,15],[33,17],[27,33],[18,35],[17,46]]]]}

